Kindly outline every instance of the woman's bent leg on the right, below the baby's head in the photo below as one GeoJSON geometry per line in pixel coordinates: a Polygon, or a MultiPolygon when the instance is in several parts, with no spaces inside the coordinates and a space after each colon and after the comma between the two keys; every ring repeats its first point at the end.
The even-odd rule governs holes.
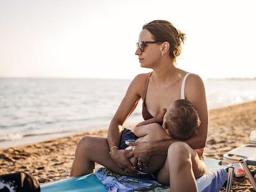
{"type": "Polygon", "coordinates": [[[206,166],[187,143],[176,142],[168,149],[164,166],[158,173],[161,183],[171,186],[171,191],[197,191],[195,178],[206,172],[206,166]]]}

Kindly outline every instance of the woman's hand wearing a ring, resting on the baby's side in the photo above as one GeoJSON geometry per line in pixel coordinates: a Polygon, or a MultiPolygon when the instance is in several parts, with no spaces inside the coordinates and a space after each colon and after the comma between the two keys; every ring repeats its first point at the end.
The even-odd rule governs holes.
{"type": "Polygon", "coordinates": [[[148,161],[150,159],[150,144],[149,142],[127,142],[129,146],[132,146],[132,150],[129,150],[129,158],[134,157],[137,165],[134,165],[137,169],[147,169],[148,161]]]}

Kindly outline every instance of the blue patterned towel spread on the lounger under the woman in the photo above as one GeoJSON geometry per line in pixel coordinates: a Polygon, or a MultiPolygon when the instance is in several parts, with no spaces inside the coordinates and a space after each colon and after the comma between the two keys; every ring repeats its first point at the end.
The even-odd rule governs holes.
{"type": "MultiPolygon", "coordinates": [[[[101,167],[95,172],[96,177],[106,186],[108,191],[170,191],[169,186],[151,178],[134,178],[119,175],[101,167]]],[[[220,191],[226,182],[228,173],[225,169],[210,169],[200,178],[197,178],[198,191],[212,192],[220,191]]]]}

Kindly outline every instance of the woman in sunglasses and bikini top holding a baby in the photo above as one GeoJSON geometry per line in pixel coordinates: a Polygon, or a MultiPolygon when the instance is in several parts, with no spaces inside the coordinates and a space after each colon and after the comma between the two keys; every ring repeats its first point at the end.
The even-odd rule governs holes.
{"type": "Polygon", "coordinates": [[[184,40],[185,35],[168,21],[154,20],[143,26],[135,54],[139,56],[141,67],[153,72],[139,74],[132,80],[111,120],[107,138],[85,136],[79,141],[70,175],[92,173],[95,162],[98,162],[113,172],[132,177],[136,177],[140,169],[151,169],[161,183],[171,186],[172,191],[197,191],[195,178],[206,171],[200,157],[207,139],[208,111],[202,79],[174,65],[184,40]],[[176,99],[186,98],[195,106],[200,117],[198,134],[185,142],[134,142],[129,143],[135,146],[134,150],[119,149],[122,125],[140,98],[143,100],[142,115],[145,120],[155,117],[176,99]],[[199,156],[194,149],[197,149],[199,156]],[[164,161],[156,172],[151,164],[156,162],[153,157],[160,154],[164,161]],[[132,165],[129,157],[135,157],[137,165],[132,165]]]}

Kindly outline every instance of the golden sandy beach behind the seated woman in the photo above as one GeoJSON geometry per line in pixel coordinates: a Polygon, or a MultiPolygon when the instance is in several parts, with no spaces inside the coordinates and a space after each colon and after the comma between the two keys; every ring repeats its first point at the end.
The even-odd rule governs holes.
{"type": "MultiPolygon", "coordinates": [[[[129,125],[127,127],[133,127],[129,125]]],[[[256,101],[209,111],[207,146],[204,156],[223,159],[231,149],[249,143],[249,135],[256,130],[256,101]]],[[[40,183],[69,177],[77,142],[84,135],[106,136],[106,127],[78,135],[66,136],[41,143],[0,149],[0,174],[27,172],[40,183]]],[[[250,166],[256,169],[256,166],[250,166]]],[[[225,188],[221,191],[224,191],[225,188]]],[[[234,178],[233,191],[254,191],[247,177],[234,178]]]]}

